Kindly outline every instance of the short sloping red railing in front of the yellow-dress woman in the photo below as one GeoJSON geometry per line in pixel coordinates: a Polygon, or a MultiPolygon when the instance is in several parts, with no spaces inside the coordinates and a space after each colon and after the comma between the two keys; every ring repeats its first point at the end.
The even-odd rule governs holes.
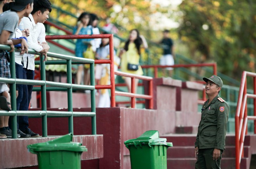
{"type": "MultiPolygon", "coordinates": [[[[153,78],[149,76],[140,76],[136,74],[130,74],[126,72],[115,71],[116,75],[125,76],[131,78],[131,93],[116,91],[116,95],[131,97],[131,108],[135,108],[136,98],[144,98],[149,100],[149,109],[153,109],[153,78]],[[135,93],[135,78],[149,81],[149,95],[141,95],[135,93]]],[[[115,100],[111,100],[115,101],[115,100]]]]}

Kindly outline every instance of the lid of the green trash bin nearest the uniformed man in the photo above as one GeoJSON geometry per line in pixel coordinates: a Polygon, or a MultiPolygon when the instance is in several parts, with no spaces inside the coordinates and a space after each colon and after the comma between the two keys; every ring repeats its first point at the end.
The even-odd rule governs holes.
{"type": "Polygon", "coordinates": [[[149,130],[140,135],[136,139],[126,140],[125,146],[129,148],[129,146],[134,145],[137,147],[138,145],[142,147],[142,145],[166,145],[168,147],[173,147],[173,143],[166,143],[166,138],[159,138],[159,133],[157,130],[149,130]]]}

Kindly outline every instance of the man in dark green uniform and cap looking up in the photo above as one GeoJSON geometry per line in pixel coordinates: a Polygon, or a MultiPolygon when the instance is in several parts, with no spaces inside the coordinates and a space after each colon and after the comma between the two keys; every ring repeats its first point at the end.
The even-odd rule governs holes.
{"type": "Polygon", "coordinates": [[[219,96],[223,86],[220,77],[203,78],[208,100],[202,107],[201,121],[195,141],[195,169],[220,169],[221,154],[225,149],[225,137],[229,105],[219,96]]]}

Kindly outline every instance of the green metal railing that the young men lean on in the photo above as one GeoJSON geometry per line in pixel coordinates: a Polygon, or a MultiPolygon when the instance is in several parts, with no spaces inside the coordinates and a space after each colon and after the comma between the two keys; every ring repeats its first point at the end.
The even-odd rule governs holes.
{"type": "MultiPolygon", "coordinates": [[[[7,45],[0,45],[0,50],[10,50],[7,45]]],[[[17,50],[18,51],[18,50],[17,50]]],[[[16,52],[17,52],[16,51],[16,52]]],[[[29,53],[40,55],[34,50],[29,50],[29,53]]],[[[42,117],[42,136],[47,137],[47,117],[68,117],[69,133],[73,133],[73,117],[91,117],[92,118],[92,135],[96,135],[96,106],[95,106],[95,77],[94,77],[94,60],[58,53],[47,53],[48,57],[54,57],[62,60],[51,60],[43,62],[43,57],[40,57],[40,75],[41,80],[16,79],[15,73],[15,55],[10,52],[10,72],[11,78],[0,78],[0,82],[10,84],[11,107],[12,110],[7,112],[0,110],[0,116],[10,116],[12,122],[12,138],[17,138],[17,116],[35,116],[42,117]],[[45,80],[45,64],[66,64],[67,65],[67,83],[58,83],[45,80]],[[91,85],[76,85],[72,84],[71,64],[90,64],[90,83],[91,85]],[[41,103],[42,110],[21,111],[16,108],[16,84],[22,85],[39,85],[41,86],[41,103]],[[67,91],[67,112],[49,111],[46,106],[46,91],[63,90],[67,91]],[[91,90],[91,112],[73,112],[72,90],[91,90]]]]}

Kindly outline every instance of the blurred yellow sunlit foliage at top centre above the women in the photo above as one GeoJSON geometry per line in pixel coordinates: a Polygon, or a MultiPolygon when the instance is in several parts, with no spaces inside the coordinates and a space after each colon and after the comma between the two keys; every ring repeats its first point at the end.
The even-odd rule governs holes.
{"type": "MultiPolygon", "coordinates": [[[[79,16],[84,11],[95,13],[101,19],[100,26],[105,24],[104,19],[111,17],[112,23],[118,26],[121,36],[127,36],[127,30],[137,28],[147,38],[156,37],[152,27],[159,23],[162,16],[155,14],[160,13],[169,18],[172,16],[171,5],[163,7],[156,3],[156,0],[51,0],[51,2],[75,16],[79,16]]],[[[52,11],[51,16],[69,25],[76,24],[73,18],[59,15],[57,11],[52,11]]]]}

